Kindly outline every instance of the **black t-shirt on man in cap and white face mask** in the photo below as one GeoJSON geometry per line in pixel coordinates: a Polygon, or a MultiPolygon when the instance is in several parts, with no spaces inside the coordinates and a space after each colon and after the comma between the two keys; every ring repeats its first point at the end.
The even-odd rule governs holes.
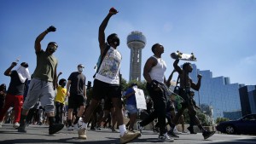
{"type": "Polygon", "coordinates": [[[83,73],[72,72],[67,80],[71,80],[69,93],[71,95],[84,95],[85,76],[83,73]]]}

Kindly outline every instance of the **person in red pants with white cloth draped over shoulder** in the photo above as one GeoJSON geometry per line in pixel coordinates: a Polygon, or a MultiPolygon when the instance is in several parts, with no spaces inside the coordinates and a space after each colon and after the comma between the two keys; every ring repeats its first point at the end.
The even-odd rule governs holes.
{"type": "MultiPolygon", "coordinates": [[[[23,105],[23,94],[25,88],[26,79],[31,79],[28,64],[26,62],[22,62],[20,66],[16,69],[12,69],[17,65],[16,62],[13,62],[11,66],[4,72],[5,76],[9,76],[11,78],[9,83],[9,89],[7,90],[7,95],[5,96],[5,103],[3,109],[0,112],[0,123],[3,121],[4,114],[8,111],[9,107],[14,107],[15,110],[15,121],[14,128],[18,128],[20,126],[20,113],[21,107],[23,105]]],[[[2,124],[2,123],[1,123],[2,124]]]]}

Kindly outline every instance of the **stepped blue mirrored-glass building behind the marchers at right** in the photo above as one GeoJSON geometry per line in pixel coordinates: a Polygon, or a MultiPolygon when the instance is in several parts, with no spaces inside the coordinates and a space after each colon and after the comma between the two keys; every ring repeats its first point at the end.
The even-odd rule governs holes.
{"type": "MultiPolygon", "coordinates": [[[[230,84],[230,78],[212,78],[210,70],[201,71],[192,64],[193,72],[190,78],[197,83],[197,74],[202,75],[201,89],[195,91],[197,105],[209,105],[213,109],[213,118],[224,117],[224,112],[241,112],[239,88],[243,84],[230,84]]],[[[239,116],[239,114],[237,114],[239,116]]],[[[233,119],[233,118],[232,118],[233,119]]]]}

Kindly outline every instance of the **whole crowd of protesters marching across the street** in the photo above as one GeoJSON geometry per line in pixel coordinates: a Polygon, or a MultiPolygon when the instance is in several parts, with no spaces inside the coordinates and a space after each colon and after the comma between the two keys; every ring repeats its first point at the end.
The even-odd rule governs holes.
{"type": "MultiPolygon", "coordinates": [[[[41,47],[44,37],[55,32],[56,28],[49,26],[40,33],[35,40],[37,66],[32,76],[26,62],[22,62],[16,70],[13,68],[18,63],[13,62],[4,72],[4,75],[11,79],[8,90],[5,84],[0,86],[1,126],[3,122],[13,123],[15,129],[26,133],[29,124],[48,124],[49,135],[53,135],[66,124],[67,130],[78,131],[79,139],[87,139],[86,131],[89,127],[90,130],[108,127],[112,132],[117,132],[118,129],[120,143],[127,143],[142,136],[143,127],[151,124],[152,130],[159,133],[159,141],[172,142],[173,137],[178,137],[175,132],[176,125],[180,122],[183,124],[183,111],[188,109],[191,121],[198,125],[203,137],[207,139],[212,136],[214,131],[205,130],[197,118],[192,96],[191,89],[200,89],[201,75],[198,75],[198,82],[195,84],[189,78],[189,72],[193,70],[191,64],[184,63],[181,68],[177,66],[179,60],[174,61],[173,72],[177,72],[180,78],[178,95],[183,99],[182,102],[176,101],[177,95],[169,89],[173,72],[168,79],[165,78],[166,62],[161,58],[164,46],[160,43],[152,46],[153,56],[148,58],[143,69],[149,94],[145,100],[147,109],[137,108],[137,84],[131,84],[122,94],[119,73],[122,55],[118,50],[119,37],[116,33],[110,34],[107,39],[105,37],[108,21],[115,14],[118,14],[118,11],[110,9],[99,27],[98,42],[101,54],[92,88],[89,84],[86,87],[82,64],[79,64],[78,71],[72,72],[67,79],[59,80],[62,72],[56,74],[58,60],[54,55],[58,44],[50,42],[45,50],[41,47]],[[87,96],[89,90],[92,91],[90,97],[87,96]],[[127,124],[124,121],[125,111],[130,118],[127,124]],[[170,130],[167,130],[166,119],[170,130]],[[155,120],[158,123],[154,125],[155,120]],[[137,130],[134,130],[136,126],[137,130]]],[[[189,127],[191,133],[194,133],[193,124],[189,127]]]]}

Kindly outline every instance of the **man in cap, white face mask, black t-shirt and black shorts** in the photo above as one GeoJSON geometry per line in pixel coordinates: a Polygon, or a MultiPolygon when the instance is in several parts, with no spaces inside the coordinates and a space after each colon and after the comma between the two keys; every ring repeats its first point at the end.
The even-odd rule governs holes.
{"type": "Polygon", "coordinates": [[[67,114],[67,124],[68,130],[73,130],[72,119],[73,119],[73,110],[79,108],[77,116],[73,125],[75,129],[79,129],[79,118],[81,118],[84,113],[85,104],[86,104],[86,87],[85,81],[86,78],[82,73],[84,71],[84,66],[79,64],[78,72],[72,72],[67,78],[67,96],[68,96],[68,114],[67,114]]]}

